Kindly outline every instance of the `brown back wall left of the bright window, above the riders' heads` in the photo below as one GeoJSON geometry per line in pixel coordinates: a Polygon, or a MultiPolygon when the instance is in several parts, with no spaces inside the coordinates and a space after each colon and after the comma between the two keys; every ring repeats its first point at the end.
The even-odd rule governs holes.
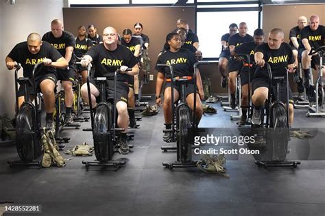
{"type": "Polygon", "coordinates": [[[151,74],[154,81],[143,85],[143,93],[154,94],[156,86],[156,70],[154,65],[159,51],[163,48],[167,33],[176,28],[178,18],[189,22],[190,29],[195,29],[195,8],[193,7],[160,7],[160,8],[63,8],[64,29],[77,36],[77,27],[94,24],[97,33],[103,34],[105,27],[112,26],[122,34],[123,29],[134,31],[134,23],[142,23],[143,33],[149,36],[149,57],[151,58],[151,74]]]}

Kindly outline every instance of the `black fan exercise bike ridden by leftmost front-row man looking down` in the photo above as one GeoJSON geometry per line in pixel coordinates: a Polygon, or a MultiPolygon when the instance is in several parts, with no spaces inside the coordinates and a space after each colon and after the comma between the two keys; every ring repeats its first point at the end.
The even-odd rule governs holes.
{"type": "Polygon", "coordinates": [[[14,165],[40,165],[40,161],[35,161],[42,154],[42,144],[40,137],[42,133],[40,123],[40,94],[36,92],[35,71],[43,64],[39,62],[34,66],[32,78],[18,77],[18,72],[21,66],[15,65],[14,72],[15,90],[16,90],[16,150],[21,161],[8,161],[10,167],[14,165]],[[18,84],[24,90],[24,102],[19,109],[18,103],[18,84]],[[32,85],[35,96],[35,105],[30,101],[28,85],[32,85]]]}

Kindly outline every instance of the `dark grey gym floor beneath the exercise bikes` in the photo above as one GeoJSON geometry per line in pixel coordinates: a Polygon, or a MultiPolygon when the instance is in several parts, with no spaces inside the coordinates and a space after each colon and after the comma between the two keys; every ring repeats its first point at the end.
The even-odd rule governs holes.
{"type": "MultiPolygon", "coordinates": [[[[151,101],[153,103],[153,101],[151,101]]],[[[214,115],[207,114],[200,126],[237,128],[220,103],[214,115]]],[[[295,127],[324,127],[324,118],[306,118],[306,110],[296,110],[295,127]]],[[[139,115],[139,113],[138,113],[139,115]]],[[[323,215],[325,214],[324,139],[309,141],[309,161],[296,169],[258,167],[254,158],[243,155],[226,162],[226,178],[206,174],[197,168],[168,170],[163,161],[175,161],[175,152],[162,152],[163,111],[143,117],[140,129],[130,129],[134,149],[114,159],[127,161],[119,170],[86,167],[82,161],[93,157],[73,157],[66,167],[9,167],[18,159],[14,146],[0,147],[0,202],[40,204],[41,215],[323,215]]],[[[91,132],[66,129],[71,141],[65,149],[86,141],[91,132]]],[[[324,129],[318,131],[324,136],[324,129]]],[[[292,159],[300,140],[291,138],[292,159]]],[[[301,146],[300,146],[301,147],[301,146]]],[[[301,148],[300,148],[301,149],[301,148]]],[[[303,149],[303,148],[302,148],[303,149]]],[[[64,154],[66,159],[70,155],[64,154]]],[[[4,204],[2,204],[4,205],[4,204]]],[[[6,215],[6,214],[5,214],[6,215]]],[[[32,214],[31,214],[32,215],[32,214]]],[[[40,214],[39,214],[40,215],[40,214]]]]}

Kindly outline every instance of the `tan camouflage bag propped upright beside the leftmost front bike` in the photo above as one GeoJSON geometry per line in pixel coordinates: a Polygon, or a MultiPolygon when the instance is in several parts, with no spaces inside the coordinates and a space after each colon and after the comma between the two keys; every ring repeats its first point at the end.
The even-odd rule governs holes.
{"type": "Polygon", "coordinates": [[[42,145],[44,149],[42,166],[50,167],[51,165],[56,165],[57,167],[64,167],[66,165],[66,160],[58,152],[58,144],[56,144],[56,137],[53,131],[46,131],[42,135],[42,145]]]}

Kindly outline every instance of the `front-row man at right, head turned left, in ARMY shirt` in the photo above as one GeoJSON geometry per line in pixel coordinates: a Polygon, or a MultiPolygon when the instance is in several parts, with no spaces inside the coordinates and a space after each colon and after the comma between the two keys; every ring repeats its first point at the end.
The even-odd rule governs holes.
{"type": "MultiPolygon", "coordinates": [[[[296,64],[294,64],[295,60],[291,46],[284,42],[282,29],[272,29],[269,32],[267,43],[256,47],[254,58],[259,68],[254,73],[254,79],[252,81],[252,104],[254,105],[252,124],[259,125],[261,124],[261,111],[263,111],[263,106],[269,91],[269,76],[265,62],[271,66],[272,77],[285,76],[285,68],[289,68],[289,72],[294,72],[293,68],[296,64]]],[[[293,122],[293,97],[289,87],[289,98],[287,98],[286,86],[286,82],[280,85],[280,100],[284,103],[289,100],[289,125],[291,125],[293,122]]],[[[273,90],[274,87],[272,87],[273,90]]]]}

